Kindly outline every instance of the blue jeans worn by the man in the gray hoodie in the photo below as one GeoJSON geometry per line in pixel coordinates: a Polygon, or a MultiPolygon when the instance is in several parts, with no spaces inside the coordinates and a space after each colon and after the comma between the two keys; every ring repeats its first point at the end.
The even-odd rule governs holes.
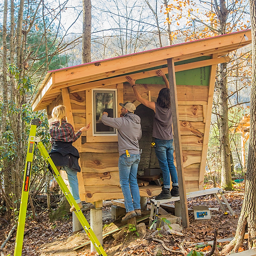
{"type": "Polygon", "coordinates": [[[122,156],[119,157],[119,179],[126,213],[134,211],[134,209],[140,209],[140,191],[137,183],[139,163],[140,154],[130,154],[130,157],[127,157],[126,154],[122,154],[122,156]]]}

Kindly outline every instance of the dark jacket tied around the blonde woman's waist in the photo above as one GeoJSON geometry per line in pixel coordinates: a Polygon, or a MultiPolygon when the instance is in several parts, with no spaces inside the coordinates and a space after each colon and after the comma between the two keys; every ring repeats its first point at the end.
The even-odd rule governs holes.
{"type": "MultiPolygon", "coordinates": [[[[72,146],[72,142],[53,142],[49,155],[55,166],[68,166],[73,171],[81,171],[78,164],[79,152],[72,146]]],[[[52,173],[50,164],[48,169],[52,173]]]]}

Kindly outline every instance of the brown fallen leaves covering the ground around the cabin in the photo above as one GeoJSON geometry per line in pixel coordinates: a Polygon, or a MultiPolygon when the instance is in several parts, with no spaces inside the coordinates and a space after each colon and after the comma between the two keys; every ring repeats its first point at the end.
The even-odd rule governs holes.
{"type": "MultiPolygon", "coordinates": [[[[209,208],[218,208],[218,210],[211,211],[210,220],[194,220],[193,213],[189,214],[190,226],[183,228],[182,233],[184,237],[178,237],[171,234],[156,234],[156,238],[164,241],[166,247],[173,251],[180,251],[181,244],[184,250],[190,252],[191,250],[203,251],[204,253],[211,250],[209,241],[214,239],[214,230],[218,230],[218,240],[221,238],[232,238],[235,235],[237,228],[238,216],[240,215],[243,193],[240,185],[240,191],[230,191],[225,193],[235,215],[224,215],[214,195],[202,196],[197,198],[189,198],[187,200],[188,207],[204,205],[209,208]],[[200,244],[201,243],[201,247],[200,244]]],[[[149,204],[150,207],[150,204],[149,204]]],[[[150,208],[148,209],[150,213],[150,208]]],[[[110,207],[105,208],[107,221],[111,223],[110,207]],[[108,214],[108,215],[107,215],[108,214]]],[[[85,213],[86,218],[89,217],[89,210],[85,213]]],[[[104,220],[104,219],[103,219],[104,220]]],[[[105,220],[106,221],[106,220],[105,220]]],[[[3,216],[0,218],[0,245],[5,241],[12,224],[6,224],[3,216]]],[[[148,225],[148,223],[146,223],[148,225]]],[[[148,227],[148,226],[147,226],[148,227]]],[[[164,249],[159,242],[153,241],[151,234],[153,230],[147,228],[147,233],[143,237],[137,237],[134,234],[127,234],[125,237],[115,241],[112,235],[107,235],[103,238],[103,248],[108,256],[124,256],[124,255],[184,255],[180,252],[170,252],[164,249]]],[[[4,255],[14,254],[16,232],[13,234],[11,240],[5,245],[4,255]]],[[[36,222],[29,218],[25,224],[23,250],[22,255],[29,256],[93,256],[96,252],[90,251],[90,245],[86,245],[79,250],[73,250],[89,241],[85,233],[72,233],[72,218],[69,214],[68,220],[54,221],[50,223],[47,213],[39,214],[39,221],[36,222]]],[[[217,242],[217,249],[214,255],[220,255],[219,252],[227,242],[217,242]]],[[[247,248],[245,240],[244,246],[239,250],[243,251],[247,248]]]]}

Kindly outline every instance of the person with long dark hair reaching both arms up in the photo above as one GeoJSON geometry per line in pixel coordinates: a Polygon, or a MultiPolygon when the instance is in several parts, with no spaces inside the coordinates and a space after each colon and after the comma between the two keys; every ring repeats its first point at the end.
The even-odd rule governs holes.
{"type": "Polygon", "coordinates": [[[156,147],[154,149],[163,173],[162,191],[156,196],[156,200],[163,200],[169,199],[171,196],[179,196],[179,191],[177,170],[173,159],[173,120],[171,116],[170,85],[162,70],[157,70],[157,75],[161,76],[166,84],[166,87],[160,90],[157,102],[149,102],[149,100],[144,99],[136,88],[135,80],[130,76],[126,76],[126,79],[132,86],[136,99],[144,106],[153,109],[155,113],[153,137],[156,147]],[[170,176],[172,181],[171,191],[170,176]]]}

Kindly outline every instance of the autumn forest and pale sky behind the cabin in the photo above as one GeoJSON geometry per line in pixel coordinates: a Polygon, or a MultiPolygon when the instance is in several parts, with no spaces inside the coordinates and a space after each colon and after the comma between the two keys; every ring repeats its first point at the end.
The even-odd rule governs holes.
{"type": "MultiPolygon", "coordinates": [[[[7,213],[12,221],[18,217],[31,119],[42,120],[38,136],[49,149],[46,113],[31,109],[46,72],[249,29],[250,4],[255,2],[4,0],[0,4],[0,215],[7,213]]],[[[216,73],[207,177],[226,190],[233,188],[232,176],[242,177],[247,167],[242,164],[241,136],[235,127],[250,113],[251,53],[251,46],[230,53],[230,62],[218,65],[216,73]]],[[[36,151],[31,205],[39,191],[45,187],[49,191],[51,179],[36,151]]]]}

